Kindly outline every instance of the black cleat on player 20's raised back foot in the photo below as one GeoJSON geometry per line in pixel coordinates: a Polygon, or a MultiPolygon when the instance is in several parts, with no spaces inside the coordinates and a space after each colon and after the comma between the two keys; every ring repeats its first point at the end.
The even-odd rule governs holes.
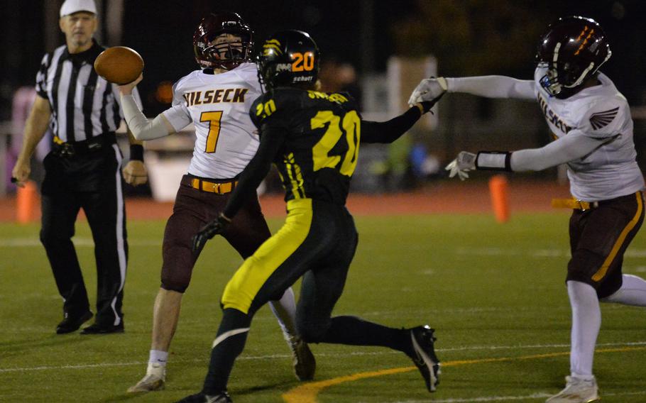
{"type": "Polygon", "coordinates": [[[433,342],[437,340],[433,337],[434,331],[435,329],[429,328],[428,325],[410,329],[410,341],[414,351],[412,362],[420,370],[429,392],[435,392],[440,374],[439,360],[433,348],[433,342]]]}

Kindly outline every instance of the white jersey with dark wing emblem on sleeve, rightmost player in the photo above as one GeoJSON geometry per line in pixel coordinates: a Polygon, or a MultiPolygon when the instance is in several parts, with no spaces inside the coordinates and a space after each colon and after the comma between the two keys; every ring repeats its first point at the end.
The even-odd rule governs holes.
{"type": "Polygon", "coordinates": [[[596,150],[567,164],[572,196],[599,201],[643,189],[644,177],[635,160],[630,107],[611,79],[599,73],[600,85],[558,99],[540,85],[545,72],[544,68],[535,71],[535,94],[554,136],[560,138],[579,130],[599,140],[596,150]]]}

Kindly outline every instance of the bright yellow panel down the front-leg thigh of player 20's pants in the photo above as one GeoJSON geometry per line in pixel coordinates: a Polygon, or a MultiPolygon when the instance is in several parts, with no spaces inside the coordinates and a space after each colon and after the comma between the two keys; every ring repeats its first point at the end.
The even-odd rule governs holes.
{"type": "Polygon", "coordinates": [[[307,238],[312,224],[312,199],[290,200],[287,208],[283,227],[247,258],[229,280],[222,294],[224,309],[234,308],[247,314],[265,281],[307,238]]]}

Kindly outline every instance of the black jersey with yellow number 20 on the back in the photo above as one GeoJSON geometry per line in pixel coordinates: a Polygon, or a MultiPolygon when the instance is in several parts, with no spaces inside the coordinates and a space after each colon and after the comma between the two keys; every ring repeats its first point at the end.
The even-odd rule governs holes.
{"type": "Polygon", "coordinates": [[[278,88],[251,106],[251,120],[287,133],[274,163],[285,201],[316,199],[345,204],[356,167],[361,116],[348,94],[278,88]]]}

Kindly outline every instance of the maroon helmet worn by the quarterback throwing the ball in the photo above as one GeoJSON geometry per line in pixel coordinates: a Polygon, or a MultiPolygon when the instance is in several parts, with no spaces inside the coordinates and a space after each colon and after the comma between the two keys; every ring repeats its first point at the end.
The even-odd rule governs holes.
{"type": "Polygon", "coordinates": [[[202,18],[193,34],[195,60],[202,68],[231,70],[243,62],[251,62],[253,31],[238,13],[211,13],[202,18]],[[241,40],[217,40],[230,33],[241,40]]]}

